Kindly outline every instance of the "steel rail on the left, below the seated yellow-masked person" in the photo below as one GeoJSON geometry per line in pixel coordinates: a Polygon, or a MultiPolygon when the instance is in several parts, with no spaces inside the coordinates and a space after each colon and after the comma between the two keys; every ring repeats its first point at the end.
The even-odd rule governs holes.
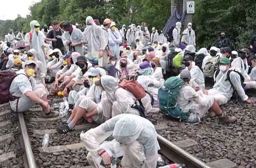
{"type": "Polygon", "coordinates": [[[26,159],[29,164],[29,168],[37,168],[37,165],[35,163],[34,154],[32,152],[31,144],[29,141],[29,135],[26,128],[26,123],[23,117],[23,113],[18,113],[19,122],[20,122],[20,130],[21,130],[21,136],[23,139],[23,146],[26,151],[26,159]]]}

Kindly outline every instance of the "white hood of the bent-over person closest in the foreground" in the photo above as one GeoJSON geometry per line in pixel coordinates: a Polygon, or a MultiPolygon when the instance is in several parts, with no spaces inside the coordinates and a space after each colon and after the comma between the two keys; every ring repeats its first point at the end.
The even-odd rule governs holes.
{"type": "Polygon", "coordinates": [[[140,137],[142,130],[142,123],[136,122],[133,117],[122,117],[116,122],[113,137],[119,143],[130,144],[140,137]]]}

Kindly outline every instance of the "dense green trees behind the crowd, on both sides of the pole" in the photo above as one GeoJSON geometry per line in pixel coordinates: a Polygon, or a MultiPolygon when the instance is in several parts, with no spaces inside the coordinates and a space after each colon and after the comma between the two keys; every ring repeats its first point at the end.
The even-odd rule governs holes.
{"type": "MultiPolygon", "coordinates": [[[[195,0],[196,13],[193,28],[197,34],[198,47],[214,45],[221,30],[231,40],[233,48],[248,46],[250,36],[256,32],[255,0],[195,0]]],[[[29,22],[38,20],[43,26],[52,20],[68,20],[82,23],[88,15],[102,23],[108,17],[120,28],[122,24],[140,25],[160,30],[165,26],[171,13],[171,0],[42,0],[30,6],[31,15],[15,20],[0,21],[0,37],[9,28],[17,33],[23,28],[29,31],[29,22]]]]}

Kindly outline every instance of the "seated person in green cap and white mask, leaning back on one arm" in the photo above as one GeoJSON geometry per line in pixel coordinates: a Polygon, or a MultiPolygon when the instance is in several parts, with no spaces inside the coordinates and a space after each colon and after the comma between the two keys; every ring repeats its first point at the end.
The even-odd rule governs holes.
{"type": "MultiPolygon", "coordinates": [[[[253,101],[249,100],[248,96],[245,94],[244,88],[241,85],[241,78],[238,73],[234,71],[230,72],[230,81],[234,88],[227,80],[227,72],[229,70],[233,70],[230,68],[230,60],[226,57],[221,58],[219,67],[220,71],[215,77],[215,84],[213,85],[213,88],[210,90],[204,90],[204,94],[214,96],[214,100],[218,105],[224,105],[230,100],[235,89],[242,101],[250,104],[253,103],[253,101]]],[[[215,71],[215,74],[216,72],[217,71],[215,71]]],[[[233,120],[235,120],[235,118],[233,118],[233,120]]]]}

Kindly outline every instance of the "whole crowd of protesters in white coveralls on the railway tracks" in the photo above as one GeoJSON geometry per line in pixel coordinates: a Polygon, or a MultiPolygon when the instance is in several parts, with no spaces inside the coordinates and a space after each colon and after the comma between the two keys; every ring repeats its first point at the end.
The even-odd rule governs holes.
{"type": "Polygon", "coordinates": [[[171,42],[155,27],[150,34],[145,22],[118,30],[113,20],[100,25],[90,16],[84,31],[57,20],[50,30],[36,20],[30,28],[25,36],[10,31],[0,45],[2,72],[17,74],[9,88],[11,108],[23,112],[38,103],[43,117],[55,117],[47,96],[66,96],[71,115],[59,133],[73,131],[81,119],[100,124],[81,133],[91,165],[108,167],[122,157],[125,168],[155,168],[160,147],[148,114],[198,124],[212,111],[220,123],[233,123],[236,117],[220,105],[235,96],[253,103],[245,91],[256,89],[256,56],[247,48],[232,51],[224,32],[216,46],[196,51],[192,23],[181,33],[177,22],[171,42]],[[106,141],[111,135],[114,140],[106,141]]]}

